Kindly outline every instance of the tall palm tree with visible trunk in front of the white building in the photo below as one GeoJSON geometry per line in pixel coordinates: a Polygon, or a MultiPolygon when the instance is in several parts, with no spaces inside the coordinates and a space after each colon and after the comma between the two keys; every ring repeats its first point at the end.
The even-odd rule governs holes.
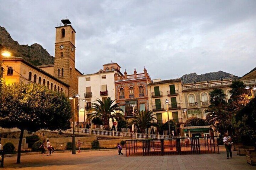
{"type": "Polygon", "coordinates": [[[92,104],[92,111],[95,111],[91,116],[89,116],[87,119],[93,119],[95,117],[100,118],[103,121],[103,129],[104,130],[110,130],[109,128],[109,120],[114,119],[120,120],[124,119],[123,115],[121,113],[117,113],[116,111],[122,111],[118,107],[118,104],[113,104],[115,100],[111,100],[110,97],[107,97],[107,99],[101,101],[100,99],[96,100],[98,103],[92,104]]]}

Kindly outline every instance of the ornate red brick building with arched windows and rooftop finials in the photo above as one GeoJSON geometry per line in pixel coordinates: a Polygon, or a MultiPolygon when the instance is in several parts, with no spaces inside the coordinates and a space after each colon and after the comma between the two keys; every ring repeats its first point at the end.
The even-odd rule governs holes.
{"type": "Polygon", "coordinates": [[[126,118],[133,116],[133,107],[135,110],[149,110],[147,84],[151,82],[150,76],[144,68],[144,73],[124,76],[115,74],[115,93],[116,103],[120,103],[120,108],[124,110],[126,118]]]}

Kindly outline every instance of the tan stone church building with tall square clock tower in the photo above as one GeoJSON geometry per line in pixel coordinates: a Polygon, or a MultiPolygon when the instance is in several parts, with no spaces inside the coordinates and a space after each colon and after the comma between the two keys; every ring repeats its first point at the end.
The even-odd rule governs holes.
{"type": "MultiPolygon", "coordinates": [[[[75,30],[69,19],[61,22],[62,25],[56,27],[54,64],[34,66],[21,57],[4,58],[2,69],[7,83],[34,82],[46,85],[52,90],[62,90],[67,97],[78,94],[77,76],[82,73],[75,68],[75,30]]],[[[77,109],[75,115],[78,120],[77,109]]]]}

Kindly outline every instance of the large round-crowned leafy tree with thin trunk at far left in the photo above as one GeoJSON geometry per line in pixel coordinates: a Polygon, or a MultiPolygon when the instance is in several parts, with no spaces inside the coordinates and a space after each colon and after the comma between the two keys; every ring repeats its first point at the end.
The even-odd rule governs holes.
{"type": "Polygon", "coordinates": [[[71,104],[62,92],[52,91],[34,83],[2,85],[0,124],[3,128],[21,130],[17,163],[21,162],[24,130],[66,130],[72,118],[71,104]]]}

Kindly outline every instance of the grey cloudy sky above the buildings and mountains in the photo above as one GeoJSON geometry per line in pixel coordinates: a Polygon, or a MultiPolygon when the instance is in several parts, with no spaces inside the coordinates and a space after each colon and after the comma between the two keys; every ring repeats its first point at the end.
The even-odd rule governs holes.
{"type": "Polygon", "coordinates": [[[0,25],[19,44],[39,43],[54,56],[55,27],[66,17],[76,33],[76,68],[94,73],[119,63],[144,66],[151,78],[256,67],[256,1],[9,1],[0,25]]]}

